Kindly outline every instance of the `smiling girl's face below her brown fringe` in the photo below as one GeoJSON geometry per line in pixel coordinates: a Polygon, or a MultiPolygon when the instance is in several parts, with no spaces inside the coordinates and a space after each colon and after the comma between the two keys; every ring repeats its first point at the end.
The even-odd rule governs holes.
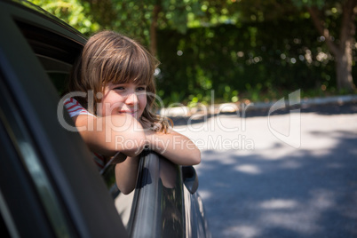
{"type": "Polygon", "coordinates": [[[107,83],[98,115],[130,114],[139,120],[147,106],[147,86],[135,83],[107,83]]]}

